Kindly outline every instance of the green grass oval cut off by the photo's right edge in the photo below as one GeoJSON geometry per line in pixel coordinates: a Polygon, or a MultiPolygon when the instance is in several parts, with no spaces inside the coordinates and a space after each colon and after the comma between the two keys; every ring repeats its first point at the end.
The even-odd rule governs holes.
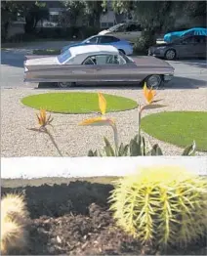
{"type": "Polygon", "coordinates": [[[159,112],[142,119],[142,129],[161,141],[186,147],[195,141],[196,148],[207,151],[207,112],[159,112]]]}

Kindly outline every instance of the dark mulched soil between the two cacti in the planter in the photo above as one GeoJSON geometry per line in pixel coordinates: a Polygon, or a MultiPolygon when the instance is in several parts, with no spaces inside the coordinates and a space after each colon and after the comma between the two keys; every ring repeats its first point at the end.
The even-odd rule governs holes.
{"type": "MultiPolygon", "coordinates": [[[[20,181],[19,187],[14,181],[11,183],[10,186],[10,181],[3,181],[1,193],[24,193],[31,217],[29,244],[24,254],[144,254],[139,241],[117,228],[112,219],[107,204],[112,185],[86,181],[58,185],[49,181],[50,185],[34,182],[33,186],[32,181],[27,182],[29,185],[20,185],[20,181]]],[[[169,248],[163,253],[145,248],[145,255],[206,255],[206,251],[203,240],[187,249],[169,248]]]]}

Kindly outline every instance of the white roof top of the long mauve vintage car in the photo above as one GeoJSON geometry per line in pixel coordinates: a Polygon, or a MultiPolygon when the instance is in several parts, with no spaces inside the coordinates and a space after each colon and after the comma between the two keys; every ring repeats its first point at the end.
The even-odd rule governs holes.
{"type": "Polygon", "coordinates": [[[70,47],[72,57],[77,55],[117,54],[118,50],[111,45],[81,45],[70,47]]]}

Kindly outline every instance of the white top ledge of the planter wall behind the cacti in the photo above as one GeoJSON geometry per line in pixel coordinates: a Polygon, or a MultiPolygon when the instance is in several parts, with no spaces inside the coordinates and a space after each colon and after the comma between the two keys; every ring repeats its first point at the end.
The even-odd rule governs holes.
{"type": "Polygon", "coordinates": [[[207,157],[14,157],[1,159],[1,179],[125,176],[148,166],[179,166],[207,175],[207,157]]]}

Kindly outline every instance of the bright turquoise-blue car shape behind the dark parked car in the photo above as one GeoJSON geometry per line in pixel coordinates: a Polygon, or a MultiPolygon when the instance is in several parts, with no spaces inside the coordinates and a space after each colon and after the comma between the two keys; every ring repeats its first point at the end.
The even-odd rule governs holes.
{"type": "Polygon", "coordinates": [[[207,28],[194,27],[184,31],[175,31],[164,35],[164,41],[170,43],[177,38],[192,36],[192,35],[203,35],[207,36],[207,28]]]}

